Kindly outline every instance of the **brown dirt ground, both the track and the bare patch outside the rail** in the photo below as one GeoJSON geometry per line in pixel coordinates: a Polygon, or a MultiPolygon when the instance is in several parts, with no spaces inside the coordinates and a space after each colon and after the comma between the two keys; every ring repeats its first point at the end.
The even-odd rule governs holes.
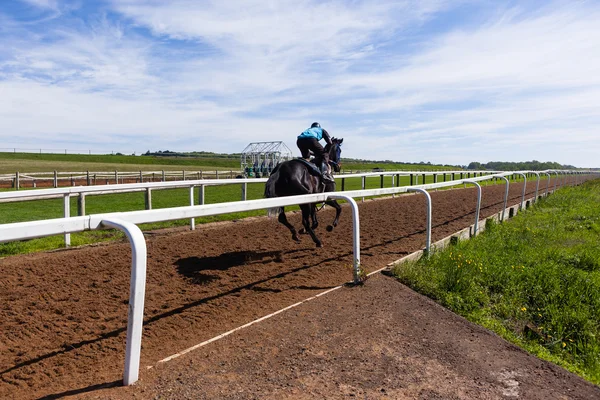
{"type": "MultiPolygon", "coordinates": [[[[522,184],[511,186],[509,203],[519,201],[521,189],[522,184]]],[[[530,184],[528,193],[534,191],[530,184]]],[[[503,185],[484,187],[482,217],[501,209],[503,195],[503,185]]],[[[435,192],[432,199],[433,240],[473,222],[475,189],[435,192]]],[[[379,269],[423,247],[424,210],[422,195],[361,204],[362,266],[379,269]]],[[[515,380],[521,395],[532,393],[522,398],[600,398],[597,387],[525,355],[384,277],[282,313],[167,367],[145,369],[351,280],[349,209],[344,207],[332,233],[322,228],[333,218],[331,210],[320,212],[319,218],[322,249],[309,237],[294,243],[286,228],[267,218],[149,234],[143,368],[133,388],[110,388],[122,379],[131,257],[127,243],[0,260],[0,398],[354,394],[493,399],[503,398],[502,390],[511,389],[515,380]],[[492,350],[481,353],[488,348],[503,356],[492,350]],[[488,372],[483,368],[487,364],[488,372]],[[555,395],[533,397],[535,393],[555,395]]],[[[298,225],[298,215],[290,220],[298,225]]]]}

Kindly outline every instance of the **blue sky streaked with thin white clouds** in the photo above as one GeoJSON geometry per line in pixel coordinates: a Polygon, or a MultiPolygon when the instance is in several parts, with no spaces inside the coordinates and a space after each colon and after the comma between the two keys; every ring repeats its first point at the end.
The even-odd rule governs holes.
{"type": "Polygon", "coordinates": [[[1,148],[600,166],[600,1],[2,0],[1,148]]]}

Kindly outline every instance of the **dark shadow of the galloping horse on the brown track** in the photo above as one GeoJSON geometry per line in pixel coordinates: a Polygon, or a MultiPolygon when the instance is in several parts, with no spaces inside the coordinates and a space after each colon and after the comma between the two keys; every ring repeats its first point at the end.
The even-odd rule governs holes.
{"type": "Polygon", "coordinates": [[[234,251],[216,257],[181,258],[175,262],[175,265],[177,265],[177,272],[187,278],[190,283],[204,285],[219,279],[219,276],[206,273],[206,271],[226,271],[248,264],[271,262],[283,262],[282,252],[234,251]]]}

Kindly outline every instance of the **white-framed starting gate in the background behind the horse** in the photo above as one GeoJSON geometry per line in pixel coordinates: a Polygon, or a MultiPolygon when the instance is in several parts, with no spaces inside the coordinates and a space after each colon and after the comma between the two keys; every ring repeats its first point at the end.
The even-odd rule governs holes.
{"type": "Polygon", "coordinates": [[[245,177],[267,177],[277,164],[292,158],[292,151],[283,142],[250,143],[241,156],[245,177]]]}

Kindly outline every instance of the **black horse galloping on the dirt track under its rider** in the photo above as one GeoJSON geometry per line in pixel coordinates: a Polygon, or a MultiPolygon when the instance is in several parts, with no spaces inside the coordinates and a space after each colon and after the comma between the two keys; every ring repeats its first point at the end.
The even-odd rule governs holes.
{"type": "MultiPolygon", "coordinates": [[[[329,154],[329,164],[333,167],[335,172],[340,172],[340,156],[342,153],[341,144],[343,141],[344,139],[332,138],[331,145],[325,146],[325,152],[329,154]]],[[[302,158],[284,161],[281,164],[278,164],[271,173],[271,176],[269,176],[269,180],[265,185],[266,198],[334,191],[335,182],[324,181],[318,168],[302,158]]],[[[325,204],[335,208],[335,219],[331,225],[327,226],[327,231],[331,232],[338,224],[342,208],[335,200],[328,200],[325,204]]],[[[310,234],[310,237],[317,247],[322,247],[321,241],[314,232],[319,225],[319,222],[317,221],[316,204],[302,204],[300,205],[300,209],[302,210],[302,225],[304,226],[304,228],[300,230],[300,233],[310,234]],[[309,223],[309,217],[312,220],[312,225],[309,223]]],[[[296,229],[288,222],[284,208],[279,207],[269,210],[269,215],[277,213],[279,214],[279,222],[284,224],[290,232],[292,232],[292,239],[299,242],[300,237],[298,236],[298,232],[296,232],[296,229]]]]}

